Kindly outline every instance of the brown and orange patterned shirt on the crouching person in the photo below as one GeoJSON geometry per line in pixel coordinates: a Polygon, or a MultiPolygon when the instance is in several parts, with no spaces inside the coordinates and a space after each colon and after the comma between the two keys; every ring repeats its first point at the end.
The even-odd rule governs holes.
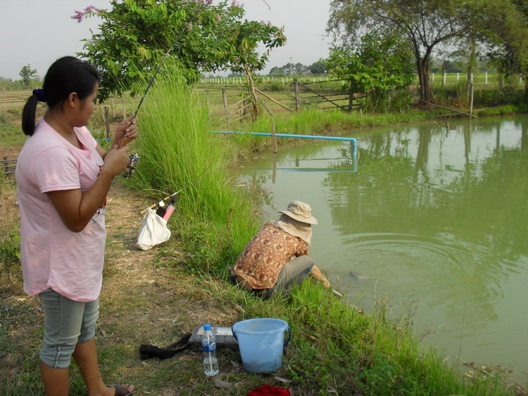
{"type": "Polygon", "coordinates": [[[308,245],[301,238],[267,222],[246,245],[232,273],[252,288],[272,288],[284,264],[302,255],[308,255],[308,245]]]}

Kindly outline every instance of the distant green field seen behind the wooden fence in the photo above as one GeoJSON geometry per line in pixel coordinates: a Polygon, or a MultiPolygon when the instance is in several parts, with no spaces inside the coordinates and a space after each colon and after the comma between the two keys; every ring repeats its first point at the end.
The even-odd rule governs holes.
{"type": "MultiPolygon", "coordinates": [[[[256,87],[263,91],[265,95],[258,94],[260,103],[265,107],[265,111],[270,113],[280,113],[287,111],[286,108],[295,108],[294,77],[255,77],[256,87]],[[266,97],[269,96],[269,97],[266,97]]],[[[308,87],[300,87],[302,108],[332,108],[332,106],[344,106],[348,97],[344,94],[345,82],[334,80],[332,76],[301,76],[297,77],[298,82],[308,87]],[[313,90],[317,94],[311,92],[313,90]],[[329,96],[334,104],[320,101],[318,94],[329,96]]],[[[466,73],[432,73],[429,75],[429,82],[432,87],[455,87],[457,84],[465,84],[466,73]]],[[[495,89],[498,87],[498,75],[496,73],[478,73],[473,75],[473,82],[476,89],[495,89]]],[[[522,79],[518,79],[519,84],[524,84],[522,79]]],[[[418,79],[415,79],[415,85],[418,79]]],[[[196,93],[207,103],[210,115],[222,122],[226,115],[224,100],[227,101],[227,113],[231,119],[236,119],[244,115],[244,98],[248,96],[248,89],[243,77],[215,77],[204,78],[196,85],[196,93]],[[222,89],[225,91],[222,93],[222,89]],[[225,95],[225,98],[224,98],[225,95]],[[237,114],[237,112],[239,114],[237,114]]],[[[2,113],[20,114],[20,110],[31,90],[24,91],[0,91],[0,115],[2,113]]],[[[147,95],[146,100],[149,96],[147,95]]],[[[105,111],[111,120],[122,119],[134,113],[139,103],[139,97],[134,98],[129,95],[123,97],[113,97],[105,103],[98,104],[92,122],[100,127],[104,125],[105,111]],[[105,110],[108,108],[108,110],[105,110]]],[[[45,106],[39,105],[39,112],[43,112],[45,106]]]]}

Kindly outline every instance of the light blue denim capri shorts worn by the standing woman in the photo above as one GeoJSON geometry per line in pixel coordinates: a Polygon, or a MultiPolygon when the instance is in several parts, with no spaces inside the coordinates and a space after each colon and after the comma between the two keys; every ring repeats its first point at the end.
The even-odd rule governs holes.
{"type": "Polygon", "coordinates": [[[54,369],[65,369],[77,343],[95,337],[99,298],[91,302],[73,301],[51,288],[39,293],[44,312],[44,347],[40,359],[54,369]]]}

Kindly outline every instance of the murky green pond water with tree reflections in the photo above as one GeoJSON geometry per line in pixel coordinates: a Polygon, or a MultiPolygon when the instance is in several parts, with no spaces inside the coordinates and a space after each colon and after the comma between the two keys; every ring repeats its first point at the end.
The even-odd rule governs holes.
{"type": "Polygon", "coordinates": [[[356,158],[351,142],[310,139],[241,170],[263,218],[310,203],[310,255],[348,302],[372,312],[384,299],[424,347],[526,381],[528,117],[343,136],[356,158]]]}

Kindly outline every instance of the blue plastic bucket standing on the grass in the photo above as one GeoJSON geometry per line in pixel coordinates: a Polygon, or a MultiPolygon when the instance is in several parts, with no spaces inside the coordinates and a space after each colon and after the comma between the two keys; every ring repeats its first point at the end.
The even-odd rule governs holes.
{"type": "Polygon", "coordinates": [[[279,369],[283,348],[289,343],[291,330],[281,319],[257,318],[235,323],[233,336],[239,342],[242,365],[252,373],[267,373],[279,369]],[[284,341],[284,332],[288,339],[284,341]]]}

